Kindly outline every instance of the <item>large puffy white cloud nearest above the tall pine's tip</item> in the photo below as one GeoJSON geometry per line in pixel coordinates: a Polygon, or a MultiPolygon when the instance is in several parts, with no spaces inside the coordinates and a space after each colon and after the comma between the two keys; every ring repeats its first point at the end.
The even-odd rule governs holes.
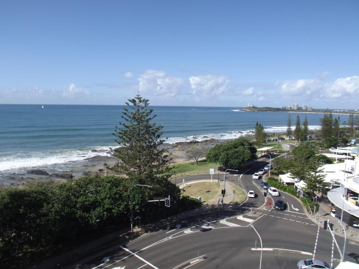
{"type": "Polygon", "coordinates": [[[139,76],[140,93],[155,96],[175,96],[180,93],[183,80],[164,71],[147,70],[139,76]]]}

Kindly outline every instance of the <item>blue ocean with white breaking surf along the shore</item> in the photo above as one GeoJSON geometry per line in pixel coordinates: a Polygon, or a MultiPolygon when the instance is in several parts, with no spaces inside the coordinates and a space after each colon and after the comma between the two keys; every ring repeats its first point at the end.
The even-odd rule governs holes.
{"type": "MultiPolygon", "coordinates": [[[[66,170],[96,155],[109,156],[116,147],[112,135],[121,121],[122,105],[0,104],[1,175],[26,170],[66,170]]],[[[241,107],[150,106],[153,122],[163,126],[167,143],[210,138],[227,140],[254,130],[258,121],[266,132],[285,132],[289,113],[243,112],[241,107]]],[[[310,129],[320,128],[320,113],[290,113],[293,130],[297,115],[305,115],[310,129]]],[[[334,115],[336,117],[336,115],[334,115]]],[[[348,115],[340,115],[341,122],[348,115]]]]}

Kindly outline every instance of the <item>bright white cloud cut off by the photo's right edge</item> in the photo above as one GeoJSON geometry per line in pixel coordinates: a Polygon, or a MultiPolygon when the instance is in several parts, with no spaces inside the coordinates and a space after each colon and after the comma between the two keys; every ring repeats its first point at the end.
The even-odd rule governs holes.
{"type": "Polygon", "coordinates": [[[325,93],[322,96],[328,98],[356,98],[359,94],[359,76],[339,78],[334,82],[324,85],[325,93]]]}

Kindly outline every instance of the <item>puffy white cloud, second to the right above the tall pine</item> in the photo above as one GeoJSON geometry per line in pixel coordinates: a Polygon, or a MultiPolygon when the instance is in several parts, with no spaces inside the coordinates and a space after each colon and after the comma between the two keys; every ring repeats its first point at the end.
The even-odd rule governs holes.
{"type": "Polygon", "coordinates": [[[205,97],[225,94],[229,89],[228,82],[227,76],[204,75],[190,77],[192,93],[205,97]]]}

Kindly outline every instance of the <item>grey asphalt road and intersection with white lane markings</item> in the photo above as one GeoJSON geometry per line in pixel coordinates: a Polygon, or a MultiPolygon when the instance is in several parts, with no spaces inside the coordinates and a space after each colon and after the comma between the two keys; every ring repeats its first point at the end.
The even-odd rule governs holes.
{"type": "MultiPolygon", "coordinates": [[[[265,208],[263,189],[259,186],[262,180],[253,180],[252,174],[266,164],[266,161],[260,161],[243,174],[226,173],[228,183],[238,185],[240,178],[240,186],[246,192],[255,190],[258,194],[255,198],[248,198],[241,205],[225,205],[213,212],[185,216],[170,227],[146,233],[126,245],[71,267],[259,268],[260,239],[250,225],[259,233],[265,248],[261,268],[296,268],[299,260],[312,258],[337,265],[340,256],[330,232],[309,220],[296,198],[280,195],[286,203],[285,211],[265,208]],[[255,247],[257,249],[253,249],[255,247]]],[[[220,174],[223,180],[223,173],[220,174]]],[[[178,184],[182,179],[186,182],[210,179],[210,175],[186,176],[175,181],[178,184]]],[[[271,199],[270,195],[268,199],[271,199]]],[[[336,240],[342,248],[344,239],[336,236],[336,240]]],[[[347,242],[345,260],[357,262],[358,258],[358,244],[347,242]]]]}

